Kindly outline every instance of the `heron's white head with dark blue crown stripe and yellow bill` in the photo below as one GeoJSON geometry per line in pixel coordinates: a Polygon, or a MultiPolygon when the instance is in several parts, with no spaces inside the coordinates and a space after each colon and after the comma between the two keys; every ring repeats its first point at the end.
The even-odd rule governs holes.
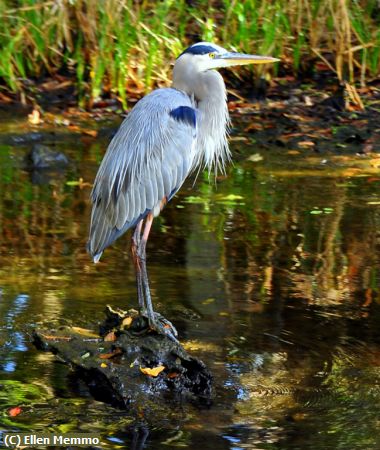
{"type": "Polygon", "coordinates": [[[268,64],[279,61],[271,56],[248,55],[229,52],[225,48],[210,42],[198,42],[182,52],[177,61],[186,58],[192,61],[199,71],[203,72],[221,67],[242,66],[245,64],[268,64]]]}

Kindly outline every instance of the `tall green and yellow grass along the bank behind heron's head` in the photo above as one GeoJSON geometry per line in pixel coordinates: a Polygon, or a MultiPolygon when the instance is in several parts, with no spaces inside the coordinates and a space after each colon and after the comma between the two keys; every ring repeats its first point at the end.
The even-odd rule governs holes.
{"type": "Polygon", "coordinates": [[[131,92],[168,84],[170,62],[198,40],[281,58],[260,75],[328,70],[364,86],[380,72],[379,24],[377,0],[5,0],[0,93],[25,102],[36,81],[61,76],[81,106],[126,108],[131,92]]]}

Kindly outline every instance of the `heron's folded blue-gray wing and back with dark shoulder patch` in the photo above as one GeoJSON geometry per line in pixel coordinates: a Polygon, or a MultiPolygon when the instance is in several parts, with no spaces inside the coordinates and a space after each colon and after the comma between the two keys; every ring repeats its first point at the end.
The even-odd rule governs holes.
{"type": "Polygon", "coordinates": [[[192,168],[196,110],[175,89],[140,100],[112,139],[95,178],[88,250],[103,250],[164,197],[170,200],[192,168]]]}

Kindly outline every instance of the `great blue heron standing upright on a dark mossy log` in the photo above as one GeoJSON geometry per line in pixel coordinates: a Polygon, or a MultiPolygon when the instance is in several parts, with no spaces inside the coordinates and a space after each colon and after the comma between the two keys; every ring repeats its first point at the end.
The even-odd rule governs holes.
{"type": "Polygon", "coordinates": [[[177,332],[153,311],[149,290],[145,249],[153,218],[189,173],[223,170],[230,160],[226,87],[213,69],[275,61],[209,42],[192,45],[175,62],[172,87],[151,92],[128,114],[96,175],[88,250],[98,262],[106,247],[135,227],[132,254],[140,309],[152,329],[173,339],[177,332]]]}

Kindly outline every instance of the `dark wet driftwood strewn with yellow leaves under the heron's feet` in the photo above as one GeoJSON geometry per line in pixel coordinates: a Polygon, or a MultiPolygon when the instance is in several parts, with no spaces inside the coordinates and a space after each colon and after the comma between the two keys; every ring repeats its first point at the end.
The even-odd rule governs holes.
{"type": "Polygon", "coordinates": [[[138,410],[178,397],[210,398],[211,375],[202,361],[150,331],[137,311],[107,307],[106,314],[99,334],[77,327],[39,329],[34,342],[76,370],[95,398],[118,407],[138,410]]]}

